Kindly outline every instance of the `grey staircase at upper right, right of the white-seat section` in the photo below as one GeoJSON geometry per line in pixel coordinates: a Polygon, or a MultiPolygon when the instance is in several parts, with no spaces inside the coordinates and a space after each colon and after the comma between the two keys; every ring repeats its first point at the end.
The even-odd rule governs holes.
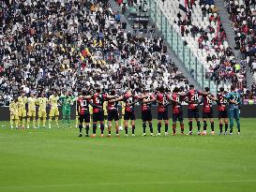
{"type": "MultiPolygon", "coordinates": [[[[225,32],[226,32],[229,45],[233,49],[233,53],[234,53],[235,57],[237,58],[237,62],[239,62],[239,59],[241,58],[240,57],[241,53],[239,52],[239,50],[234,50],[235,34],[234,34],[234,31],[232,28],[232,22],[229,19],[229,13],[228,13],[226,7],[224,7],[223,0],[215,0],[215,6],[218,8],[218,15],[220,16],[220,21],[223,25],[225,32]]],[[[249,67],[247,66],[247,87],[250,88],[253,82],[254,82],[254,80],[252,78],[252,74],[249,72],[249,67]]]]}

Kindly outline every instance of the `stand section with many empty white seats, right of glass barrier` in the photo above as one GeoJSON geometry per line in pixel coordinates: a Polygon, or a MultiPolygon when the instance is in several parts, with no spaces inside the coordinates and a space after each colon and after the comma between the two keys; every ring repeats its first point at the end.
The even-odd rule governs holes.
{"type": "MultiPolygon", "coordinates": [[[[212,81],[226,85],[244,80],[244,68],[235,70],[236,62],[225,31],[219,20],[214,1],[161,1],[158,7],[168,17],[189,49],[203,63],[212,81]],[[187,2],[187,3],[183,3],[187,2]],[[239,79],[240,78],[240,79],[239,79]]],[[[239,66],[238,66],[239,65],[239,66]]],[[[241,83],[240,83],[241,84],[241,83]]],[[[243,84],[241,85],[243,86],[243,84]]],[[[227,87],[227,86],[226,86],[227,87]]]]}

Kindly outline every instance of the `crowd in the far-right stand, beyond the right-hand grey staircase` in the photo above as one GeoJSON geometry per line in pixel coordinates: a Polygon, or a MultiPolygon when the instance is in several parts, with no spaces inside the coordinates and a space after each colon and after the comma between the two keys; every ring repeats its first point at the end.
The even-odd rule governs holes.
{"type": "MultiPolygon", "coordinates": [[[[235,49],[241,52],[244,67],[249,66],[250,72],[254,73],[256,71],[255,0],[225,0],[225,7],[230,14],[230,20],[233,22],[235,49]]],[[[256,81],[256,79],[254,81],[256,81]]],[[[253,87],[251,88],[251,95],[256,96],[255,88],[253,87]]]]}

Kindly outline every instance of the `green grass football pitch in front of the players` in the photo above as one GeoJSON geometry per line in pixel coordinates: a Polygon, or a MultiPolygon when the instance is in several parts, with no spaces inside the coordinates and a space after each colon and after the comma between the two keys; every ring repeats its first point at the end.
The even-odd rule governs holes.
{"type": "Polygon", "coordinates": [[[160,138],[141,137],[141,121],[134,138],[103,139],[78,138],[54,121],[39,130],[1,125],[1,192],[256,190],[255,119],[241,120],[240,136],[235,127],[233,136],[181,136],[178,128],[160,138]]]}

